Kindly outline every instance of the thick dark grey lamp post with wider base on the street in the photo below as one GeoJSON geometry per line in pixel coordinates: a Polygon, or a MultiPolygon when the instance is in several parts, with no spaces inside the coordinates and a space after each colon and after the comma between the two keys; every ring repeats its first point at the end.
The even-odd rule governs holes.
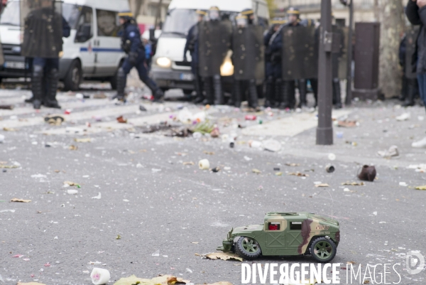
{"type": "Polygon", "coordinates": [[[320,58],[318,63],[317,144],[333,144],[332,127],[332,0],[321,1],[320,58]]]}

